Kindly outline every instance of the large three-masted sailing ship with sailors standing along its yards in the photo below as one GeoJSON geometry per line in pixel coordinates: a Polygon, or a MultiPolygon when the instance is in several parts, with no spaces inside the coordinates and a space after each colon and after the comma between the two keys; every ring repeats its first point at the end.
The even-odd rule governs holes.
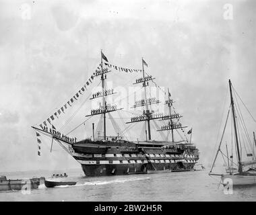
{"type": "MultiPolygon", "coordinates": [[[[71,155],[77,162],[82,165],[82,169],[86,176],[102,176],[102,175],[127,175],[127,174],[140,174],[140,173],[157,173],[157,172],[170,172],[170,171],[191,171],[197,160],[199,159],[199,150],[195,144],[187,140],[184,128],[180,122],[181,114],[178,114],[173,107],[174,101],[171,98],[168,89],[168,96],[164,101],[165,109],[168,112],[158,113],[152,110],[152,106],[159,104],[159,99],[150,97],[148,94],[149,82],[155,83],[155,78],[144,71],[144,66],[148,64],[142,58],[142,77],[134,81],[134,85],[141,85],[143,90],[143,97],[135,101],[132,105],[132,110],[137,107],[143,109],[141,114],[133,115],[129,122],[126,124],[142,124],[145,137],[133,138],[129,140],[125,134],[129,132],[128,127],[121,131],[117,122],[113,120],[111,114],[123,110],[115,104],[108,103],[108,95],[114,95],[114,89],[108,89],[106,79],[110,77],[108,60],[101,51],[100,68],[94,73],[93,78],[100,78],[102,86],[101,91],[92,93],[90,99],[101,99],[100,107],[90,111],[86,117],[94,118],[100,116],[98,124],[103,125],[103,131],[94,130],[94,122],[92,123],[92,136],[82,140],[77,138],[69,138],[67,135],[61,134],[55,126],[47,128],[47,126],[32,126],[36,132],[46,134],[53,140],[57,141],[69,155],[71,155]],[[113,127],[116,128],[116,134],[108,135],[106,123],[106,116],[110,118],[113,127]],[[166,140],[166,136],[162,140],[152,140],[152,122],[157,128],[155,131],[164,134],[167,132],[171,135],[171,140],[166,140]],[[156,122],[165,123],[162,126],[156,122]],[[176,140],[174,132],[183,132],[184,138],[176,140]],[[98,134],[98,136],[96,136],[98,134]]],[[[113,68],[114,69],[114,68],[113,68]]],[[[120,69],[119,69],[120,70],[120,69]]],[[[122,69],[123,71],[123,69],[122,69]]],[[[140,74],[141,74],[140,73],[140,74]]],[[[123,120],[123,118],[121,118],[123,120]]],[[[100,126],[97,126],[100,128],[100,126]]],[[[143,134],[143,133],[142,133],[143,134]]],[[[179,133],[180,134],[180,133],[179,133]]],[[[188,134],[191,134],[188,132],[188,134]]],[[[180,134],[181,136],[181,134],[180,134]]]]}

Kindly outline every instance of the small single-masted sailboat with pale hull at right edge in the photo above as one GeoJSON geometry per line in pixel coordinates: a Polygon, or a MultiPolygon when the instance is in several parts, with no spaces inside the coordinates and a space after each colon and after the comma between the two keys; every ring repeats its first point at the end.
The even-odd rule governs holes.
{"type": "MultiPolygon", "coordinates": [[[[212,168],[210,170],[209,175],[218,175],[218,176],[220,176],[221,183],[223,185],[227,185],[228,183],[230,183],[230,181],[232,181],[233,186],[256,185],[256,169],[252,168],[252,167],[248,168],[248,166],[256,164],[254,146],[251,145],[251,140],[249,138],[247,138],[247,143],[249,143],[252,146],[251,147],[251,153],[247,152],[247,157],[253,157],[253,160],[252,161],[242,160],[241,132],[240,132],[240,130],[238,130],[238,125],[240,125],[241,128],[245,128],[245,129],[246,129],[246,126],[245,126],[244,122],[243,122],[242,126],[241,126],[241,124],[238,124],[238,120],[239,119],[243,120],[243,118],[241,116],[241,111],[238,110],[239,106],[234,104],[234,97],[233,97],[233,91],[232,91],[233,87],[232,87],[232,83],[231,83],[230,80],[228,81],[228,85],[229,85],[229,91],[230,91],[230,107],[228,109],[228,115],[226,117],[226,122],[225,122],[225,125],[224,125],[224,130],[223,130],[223,133],[222,133],[220,144],[218,146],[218,150],[217,150],[216,156],[214,158],[214,163],[212,164],[212,168]],[[230,115],[230,109],[231,109],[231,112],[232,112],[232,126],[233,126],[233,130],[234,130],[234,144],[235,144],[235,148],[236,148],[237,163],[234,163],[233,156],[228,157],[227,145],[226,145],[227,155],[224,155],[224,153],[221,150],[222,140],[223,140],[224,133],[225,133],[225,130],[226,130],[226,125],[227,125],[227,122],[228,122],[228,116],[230,115]],[[228,161],[228,169],[226,169],[226,172],[228,174],[226,174],[226,173],[223,173],[223,174],[212,173],[212,170],[214,168],[214,164],[216,163],[216,159],[217,159],[219,153],[222,154],[222,157],[224,157],[224,158],[226,157],[226,161],[228,161]],[[230,166],[230,163],[232,164],[232,166],[230,166]],[[233,167],[233,165],[236,165],[238,167],[237,171],[236,171],[236,168],[233,167]]],[[[255,140],[255,136],[254,136],[254,140],[255,140]]],[[[247,148],[247,150],[248,150],[248,148],[247,148]]]]}

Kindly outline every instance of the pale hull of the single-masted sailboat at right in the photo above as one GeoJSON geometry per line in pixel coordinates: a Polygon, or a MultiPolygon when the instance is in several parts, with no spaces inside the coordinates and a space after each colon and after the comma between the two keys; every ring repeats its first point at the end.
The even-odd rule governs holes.
{"type": "Polygon", "coordinates": [[[221,180],[223,185],[256,185],[256,175],[222,175],[221,180]]]}

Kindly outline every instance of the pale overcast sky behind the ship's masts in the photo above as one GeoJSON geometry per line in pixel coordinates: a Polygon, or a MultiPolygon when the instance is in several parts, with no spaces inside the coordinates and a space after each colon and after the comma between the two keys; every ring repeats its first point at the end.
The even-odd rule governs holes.
{"type": "MultiPolygon", "coordinates": [[[[158,85],[170,88],[183,124],[193,127],[193,142],[207,165],[215,153],[228,79],[256,116],[255,4],[0,0],[0,172],[79,168],[56,144],[50,153],[47,138],[38,157],[30,126],[49,118],[86,83],[100,62],[100,49],[125,68],[141,69],[143,56],[158,85]]],[[[131,74],[118,76],[115,86],[132,86],[131,74]]],[[[82,107],[65,132],[86,114],[90,110],[82,107]]],[[[249,120],[250,135],[253,123],[249,120]]],[[[83,129],[77,138],[90,136],[91,124],[83,129]]]]}

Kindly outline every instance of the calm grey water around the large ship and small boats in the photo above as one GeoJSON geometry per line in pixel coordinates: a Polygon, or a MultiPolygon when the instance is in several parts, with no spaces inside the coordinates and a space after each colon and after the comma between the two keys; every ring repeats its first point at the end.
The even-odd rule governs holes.
{"type": "MultiPolygon", "coordinates": [[[[66,171],[74,186],[46,188],[40,185],[30,194],[0,191],[0,201],[255,201],[256,186],[237,188],[224,194],[219,179],[208,171],[84,177],[82,170],[66,171]]],[[[63,172],[57,172],[63,173],[63,172]]],[[[5,173],[9,179],[44,176],[48,172],[5,173]]]]}

